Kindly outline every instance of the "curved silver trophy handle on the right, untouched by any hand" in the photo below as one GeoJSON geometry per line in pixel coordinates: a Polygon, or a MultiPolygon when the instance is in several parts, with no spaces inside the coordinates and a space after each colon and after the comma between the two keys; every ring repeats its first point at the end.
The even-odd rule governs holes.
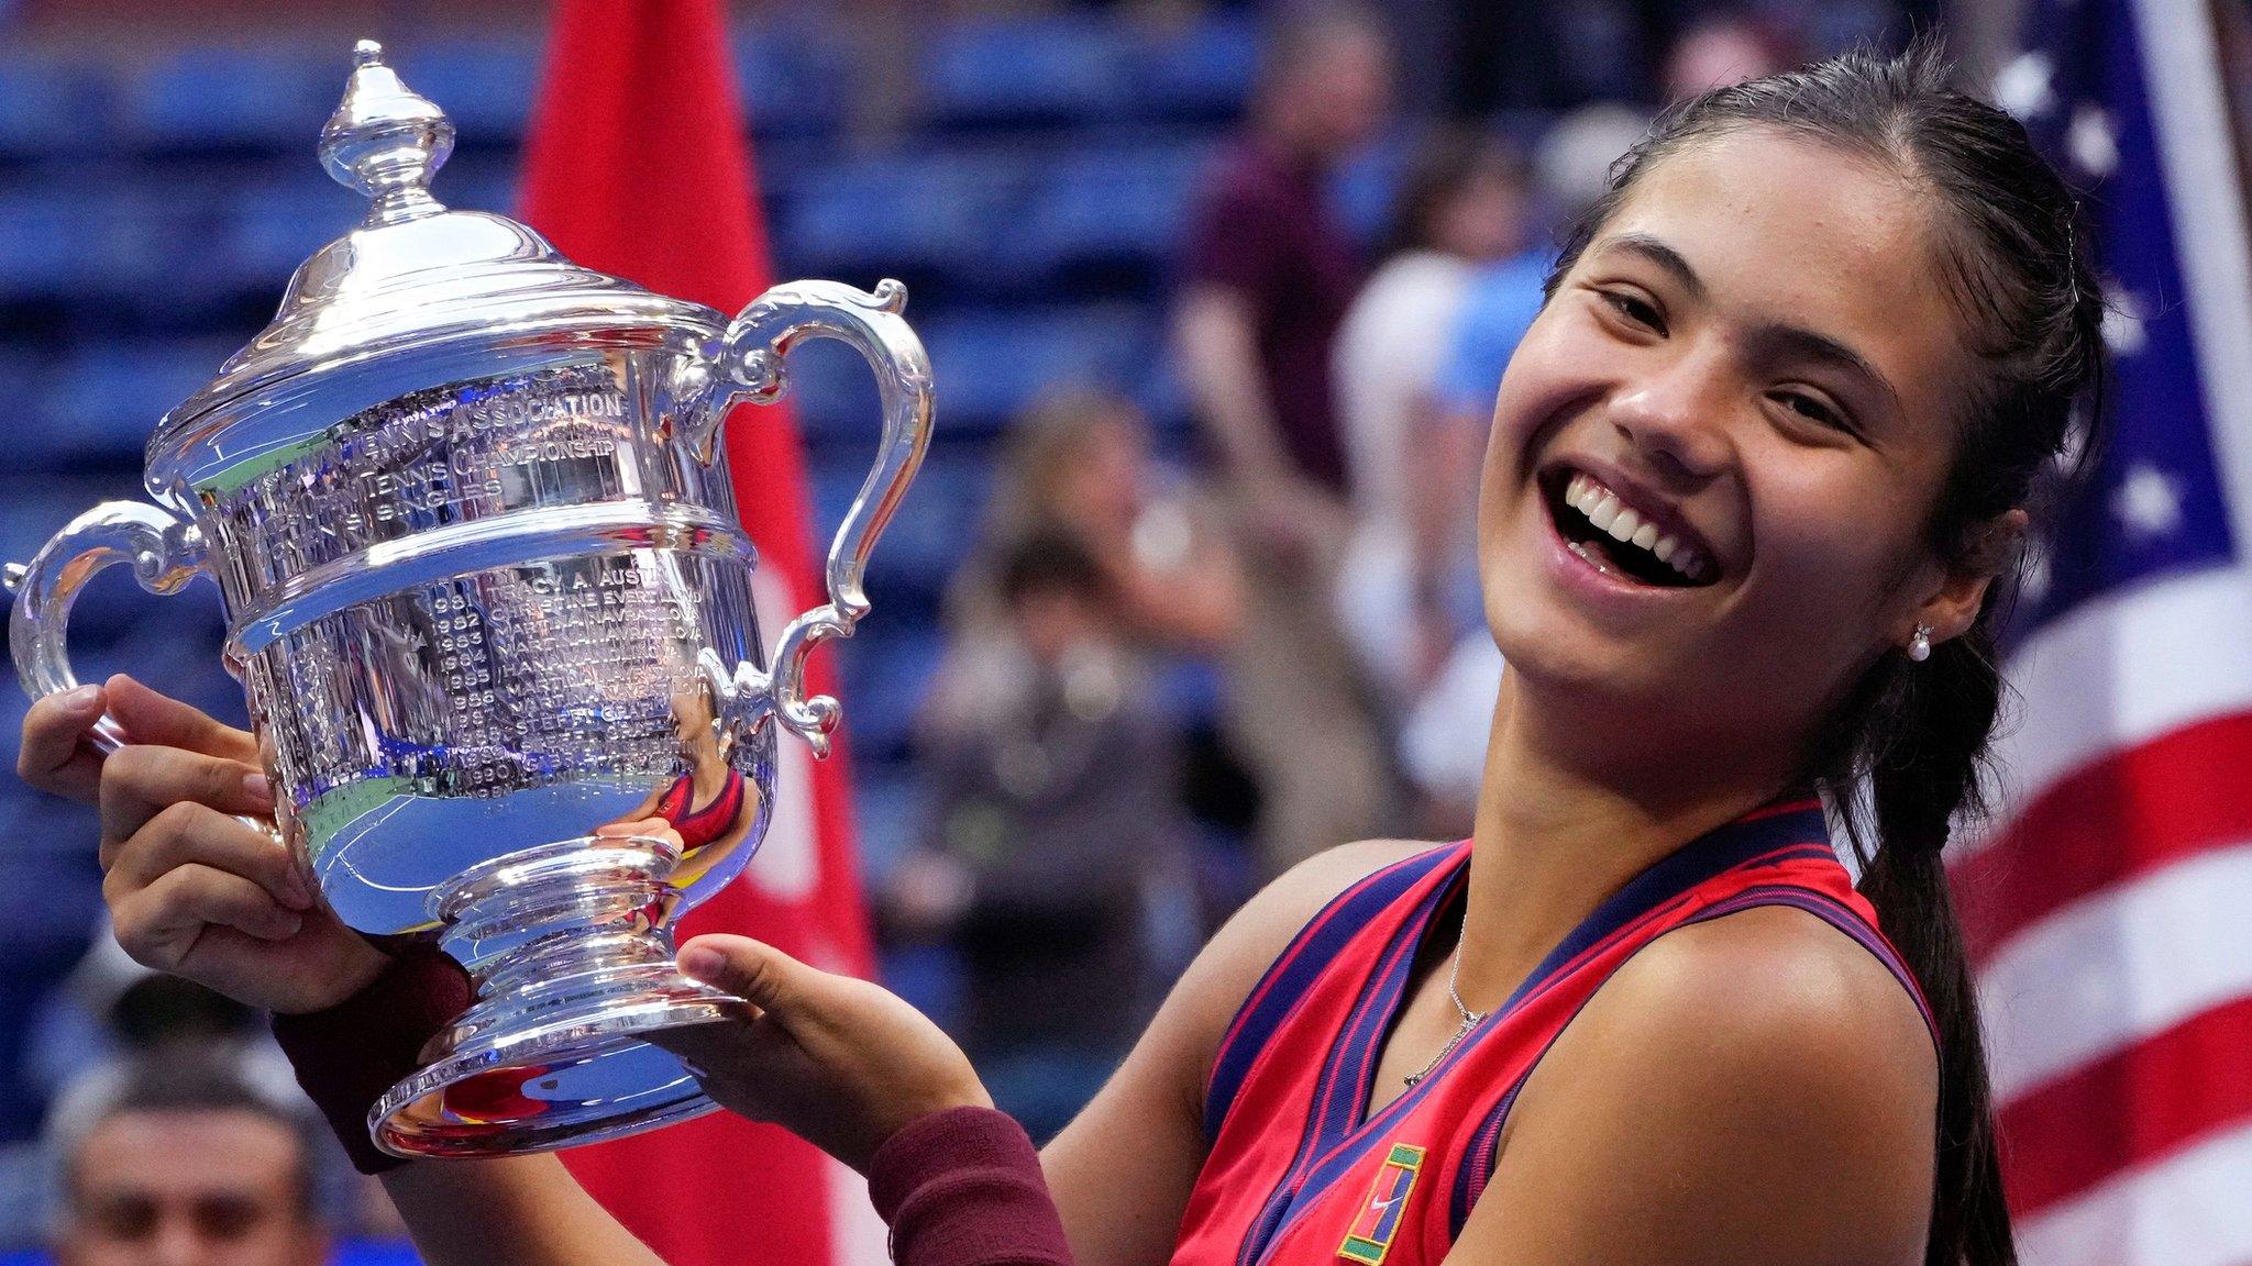
{"type": "Polygon", "coordinates": [[[867,615],[860,577],[867,572],[869,550],[930,448],[930,356],[901,320],[905,306],[908,288],[892,279],[878,282],[874,293],[840,282],[788,282],[766,291],[727,324],[721,349],[725,387],[691,437],[696,457],[712,462],[727,408],[739,399],[761,405],[779,401],[788,392],[781,360],[806,338],[847,342],[876,372],[883,442],[876,466],[829,541],[829,601],[790,619],[775,644],[772,671],[757,665],[734,665],[730,671],[714,651],[703,653],[723,725],[748,730],[772,714],[820,757],[829,755],[838,701],[826,694],[806,696],[806,656],[829,638],[851,638],[854,624],[867,615]]]}

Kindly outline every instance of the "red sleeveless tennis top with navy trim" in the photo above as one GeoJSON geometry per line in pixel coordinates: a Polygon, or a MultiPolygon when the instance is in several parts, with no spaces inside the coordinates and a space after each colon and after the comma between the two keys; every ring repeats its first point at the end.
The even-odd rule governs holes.
{"type": "Polygon", "coordinates": [[[1635,876],[1430,1075],[1367,1117],[1417,948],[1462,894],[1468,861],[1468,842],[1448,845],[1347,888],[1245,998],[1212,1068],[1209,1156],[1173,1266],[1439,1266],[1534,1066],[1619,964],[1673,928],[1795,906],[1867,946],[1930,1023],[1831,852],[1822,804],[1779,800],[1635,876]]]}

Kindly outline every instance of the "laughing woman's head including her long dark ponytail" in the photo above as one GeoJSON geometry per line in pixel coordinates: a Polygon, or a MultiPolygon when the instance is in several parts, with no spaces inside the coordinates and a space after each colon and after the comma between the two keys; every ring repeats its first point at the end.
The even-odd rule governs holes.
{"type": "Polygon", "coordinates": [[[1928,45],[1768,77],[1619,160],[1504,376],[1482,559],[1518,669],[1498,746],[1507,694],[1615,746],[1599,703],[1662,730],[1651,757],[1727,755],[1691,779],[1831,793],[1939,1025],[1928,1257],[2007,1261],[1939,849],[1982,809],[2011,550],[2036,475],[2099,412],[2103,309],[2070,191],[1939,83],[1928,45]],[[1709,541],[1714,574],[1619,583],[1576,543],[1606,527],[1590,487],[1709,541]]]}

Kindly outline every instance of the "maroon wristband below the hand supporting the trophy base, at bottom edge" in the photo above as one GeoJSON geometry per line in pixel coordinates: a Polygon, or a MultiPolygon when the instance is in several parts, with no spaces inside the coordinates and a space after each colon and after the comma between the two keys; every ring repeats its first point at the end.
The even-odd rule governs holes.
{"type": "Polygon", "coordinates": [[[899,1266],[1072,1266],[1025,1126],[993,1108],[930,1113],[867,1165],[899,1266]]]}

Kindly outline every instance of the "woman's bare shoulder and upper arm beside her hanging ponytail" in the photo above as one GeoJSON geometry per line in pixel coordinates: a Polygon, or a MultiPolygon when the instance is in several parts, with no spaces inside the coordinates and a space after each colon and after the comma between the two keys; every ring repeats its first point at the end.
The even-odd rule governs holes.
{"type": "Polygon", "coordinates": [[[1860,946],[1759,908],[1635,955],[1525,1084],[1448,1266],[1914,1266],[1937,1063],[1860,946]]]}

